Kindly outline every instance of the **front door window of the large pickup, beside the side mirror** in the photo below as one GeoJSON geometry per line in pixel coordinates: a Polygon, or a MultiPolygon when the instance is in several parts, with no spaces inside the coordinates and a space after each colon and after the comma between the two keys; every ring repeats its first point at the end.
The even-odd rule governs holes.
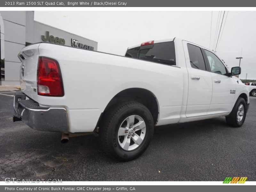
{"type": "Polygon", "coordinates": [[[220,59],[210,51],[205,50],[205,53],[210,64],[211,71],[220,75],[226,75],[226,68],[220,59]]]}

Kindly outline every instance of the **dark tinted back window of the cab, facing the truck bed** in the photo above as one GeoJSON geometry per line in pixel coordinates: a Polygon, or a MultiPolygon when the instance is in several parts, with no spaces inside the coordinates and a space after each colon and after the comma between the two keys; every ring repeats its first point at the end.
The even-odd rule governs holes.
{"type": "Polygon", "coordinates": [[[174,42],[149,44],[128,49],[125,57],[176,65],[174,42]]]}

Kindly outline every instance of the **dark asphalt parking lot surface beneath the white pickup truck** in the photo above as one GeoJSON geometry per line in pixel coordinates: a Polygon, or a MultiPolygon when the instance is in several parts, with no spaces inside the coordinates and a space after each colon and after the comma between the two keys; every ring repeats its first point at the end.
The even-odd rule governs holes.
{"type": "Polygon", "coordinates": [[[140,158],[117,162],[100,147],[97,134],[71,137],[12,122],[14,91],[0,91],[0,180],[221,181],[256,180],[256,97],[240,128],[225,118],[156,127],[140,158]]]}

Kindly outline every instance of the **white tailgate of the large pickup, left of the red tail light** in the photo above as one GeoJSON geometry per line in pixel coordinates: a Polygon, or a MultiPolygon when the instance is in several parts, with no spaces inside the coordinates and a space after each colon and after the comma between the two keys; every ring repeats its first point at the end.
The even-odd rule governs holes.
{"type": "Polygon", "coordinates": [[[20,50],[18,57],[21,61],[20,66],[20,86],[21,91],[28,97],[37,101],[37,63],[39,44],[32,44],[20,50]]]}

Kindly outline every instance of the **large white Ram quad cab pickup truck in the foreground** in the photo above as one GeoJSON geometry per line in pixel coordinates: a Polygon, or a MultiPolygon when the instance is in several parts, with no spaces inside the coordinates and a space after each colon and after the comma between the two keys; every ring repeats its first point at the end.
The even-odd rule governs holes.
{"type": "Polygon", "coordinates": [[[122,161],[140,156],[154,126],[226,116],[240,127],[249,92],[215,53],[180,38],[129,47],[125,56],[50,43],[18,57],[13,121],[36,130],[93,133],[122,161]]]}

